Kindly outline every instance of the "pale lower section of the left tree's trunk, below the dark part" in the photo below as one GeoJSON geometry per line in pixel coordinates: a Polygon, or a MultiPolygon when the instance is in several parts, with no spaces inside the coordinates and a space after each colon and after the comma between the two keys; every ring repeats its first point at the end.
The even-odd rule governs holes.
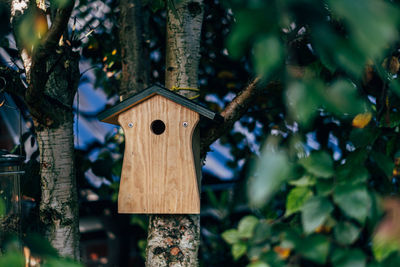
{"type": "Polygon", "coordinates": [[[73,119],[37,131],[45,234],[61,256],[79,258],[78,208],[74,169],[73,119]]]}

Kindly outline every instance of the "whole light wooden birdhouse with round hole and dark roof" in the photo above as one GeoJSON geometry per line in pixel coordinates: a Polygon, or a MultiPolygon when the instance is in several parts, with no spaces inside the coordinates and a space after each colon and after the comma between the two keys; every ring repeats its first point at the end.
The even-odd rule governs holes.
{"type": "Polygon", "coordinates": [[[200,115],[221,119],[158,85],[99,114],[125,134],[119,213],[200,213],[200,156],[193,146],[200,115]]]}

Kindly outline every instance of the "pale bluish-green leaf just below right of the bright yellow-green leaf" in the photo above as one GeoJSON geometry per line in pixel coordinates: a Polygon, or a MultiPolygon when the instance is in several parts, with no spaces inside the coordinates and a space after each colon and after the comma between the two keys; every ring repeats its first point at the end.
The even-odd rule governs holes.
{"type": "Polygon", "coordinates": [[[307,200],[301,210],[304,231],[311,233],[325,222],[329,214],[333,211],[333,205],[327,198],[312,197],[307,200]]]}

